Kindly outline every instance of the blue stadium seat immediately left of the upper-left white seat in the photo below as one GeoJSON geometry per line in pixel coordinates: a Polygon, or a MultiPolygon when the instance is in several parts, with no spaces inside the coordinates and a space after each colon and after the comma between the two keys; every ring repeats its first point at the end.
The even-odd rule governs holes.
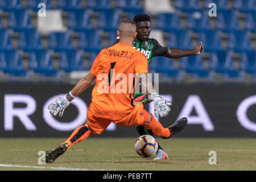
{"type": "Polygon", "coordinates": [[[30,14],[23,9],[11,11],[9,14],[8,26],[14,31],[31,29],[32,24],[30,14]]]}

